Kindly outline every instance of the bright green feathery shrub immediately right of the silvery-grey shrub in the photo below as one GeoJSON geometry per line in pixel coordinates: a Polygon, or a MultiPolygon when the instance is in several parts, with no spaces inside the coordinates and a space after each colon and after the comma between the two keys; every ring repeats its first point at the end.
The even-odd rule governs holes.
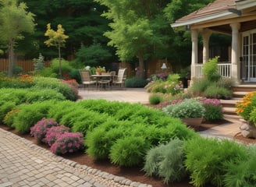
{"type": "Polygon", "coordinates": [[[223,186],[225,163],[246,157],[245,146],[226,139],[190,139],[184,143],[184,151],[187,157],[185,165],[191,183],[196,187],[208,183],[223,186]]]}

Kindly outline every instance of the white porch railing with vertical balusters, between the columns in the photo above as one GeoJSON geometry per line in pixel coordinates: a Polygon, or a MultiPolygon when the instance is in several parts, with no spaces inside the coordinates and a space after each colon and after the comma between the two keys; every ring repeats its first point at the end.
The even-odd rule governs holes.
{"type": "MultiPolygon", "coordinates": [[[[196,64],[195,66],[195,77],[203,77],[203,64],[196,64]]],[[[224,78],[231,78],[231,63],[230,62],[220,62],[218,63],[219,74],[224,78]]]]}

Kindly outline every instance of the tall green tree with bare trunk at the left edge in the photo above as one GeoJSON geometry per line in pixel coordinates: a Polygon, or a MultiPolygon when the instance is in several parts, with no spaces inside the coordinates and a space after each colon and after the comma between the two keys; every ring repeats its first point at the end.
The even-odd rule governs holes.
{"type": "Polygon", "coordinates": [[[16,41],[22,40],[24,33],[34,33],[34,14],[27,12],[27,5],[17,0],[1,0],[0,4],[0,40],[8,44],[8,75],[12,76],[16,41]]]}

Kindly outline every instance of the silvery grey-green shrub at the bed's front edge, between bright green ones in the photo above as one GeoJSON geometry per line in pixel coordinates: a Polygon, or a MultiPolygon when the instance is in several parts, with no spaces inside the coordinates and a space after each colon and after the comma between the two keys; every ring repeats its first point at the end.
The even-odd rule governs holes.
{"type": "Polygon", "coordinates": [[[183,141],[172,139],[148,151],[143,170],[146,175],[155,175],[164,179],[165,183],[181,181],[186,176],[183,164],[183,141]]]}

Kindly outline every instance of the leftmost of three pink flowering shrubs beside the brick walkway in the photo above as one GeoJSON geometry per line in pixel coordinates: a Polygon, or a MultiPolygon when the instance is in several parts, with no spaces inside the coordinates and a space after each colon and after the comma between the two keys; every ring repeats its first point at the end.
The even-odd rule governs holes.
{"type": "Polygon", "coordinates": [[[30,135],[34,136],[35,139],[42,141],[46,132],[48,132],[48,129],[57,125],[59,125],[58,122],[55,122],[55,120],[52,118],[42,118],[39,122],[30,128],[30,135]]]}

